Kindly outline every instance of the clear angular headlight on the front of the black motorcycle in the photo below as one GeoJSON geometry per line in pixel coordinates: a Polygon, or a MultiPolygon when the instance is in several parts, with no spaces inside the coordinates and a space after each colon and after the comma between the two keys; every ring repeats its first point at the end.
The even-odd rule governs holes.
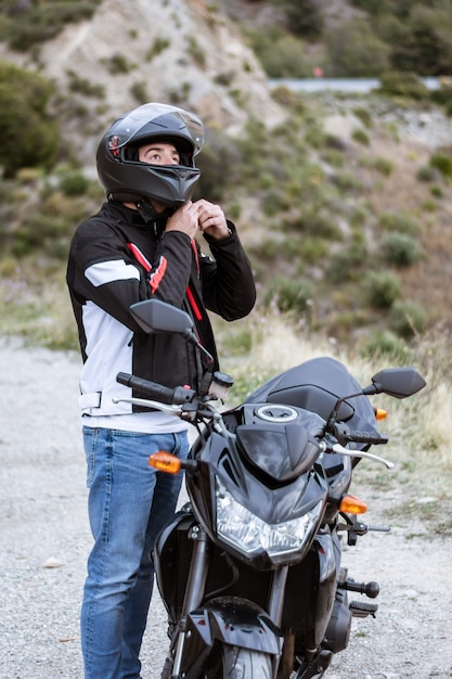
{"type": "Polygon", "coordinates": [[[323,500],[304,516],[268,524],[234,500],[218,477],[216,481],[217,534],[243,554],[253,556],[263,550],[273,563],[280,563],[300,551],[312,537],[323,500]]]}

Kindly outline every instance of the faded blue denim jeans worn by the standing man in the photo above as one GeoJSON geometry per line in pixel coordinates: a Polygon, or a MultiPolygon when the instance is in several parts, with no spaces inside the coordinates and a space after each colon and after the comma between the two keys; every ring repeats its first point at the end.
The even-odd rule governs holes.
{"type": "Polygon", "coordinates": [[[171,520],[182,474],[156,472],[148,456],[189,451],[186,432],[139,434],[83,427],[94,546],[81,606],[86,679],[140,679],[139,653],[154,581],[151,550],[171,520]]]}

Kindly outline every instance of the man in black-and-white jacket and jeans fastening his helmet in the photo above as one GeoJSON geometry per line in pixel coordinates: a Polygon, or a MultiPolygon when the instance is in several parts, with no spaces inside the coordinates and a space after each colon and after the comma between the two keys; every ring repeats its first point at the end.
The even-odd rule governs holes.
{"type": "Polygon", "coordinates": [[[83,368],[80,380],[94,545],[81,608],[86,679],[139,679],[152,595],[151,550],[171,518],[181,478],[153,471],[152,452],[188,454],[186,424],[113,397],[133,373],[166,386],[202,377],[198,350],[180,335],[145,334],[129,307],[152,297],[188,311],[218,366],[206,308],[227,320],[249,313],[255,285],[235,227],[206,200],[192,202],[203,125],[175,106],[150,103],[103,137],[98,172],[107,202],[81,223],[67,267],[83,368]],[[212,257],[201,252],[202,233],[212,257]]]}

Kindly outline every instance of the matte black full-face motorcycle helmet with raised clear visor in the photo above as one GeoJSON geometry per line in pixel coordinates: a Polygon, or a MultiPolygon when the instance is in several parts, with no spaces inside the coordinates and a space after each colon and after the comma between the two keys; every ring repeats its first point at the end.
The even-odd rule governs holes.
{"type": "Polygon", "coordinates": [[[118,118],[102,138],[99,179],[108,198],[124,203],[151,198],[177,207],[191,198],[199,179],[194,156],[203,142],[203,124],[195,114],[167,104],[143,104],[118,118]],[[140,163],[138,148],[151,140],[175,144],[180,165],[140,163]]]}

